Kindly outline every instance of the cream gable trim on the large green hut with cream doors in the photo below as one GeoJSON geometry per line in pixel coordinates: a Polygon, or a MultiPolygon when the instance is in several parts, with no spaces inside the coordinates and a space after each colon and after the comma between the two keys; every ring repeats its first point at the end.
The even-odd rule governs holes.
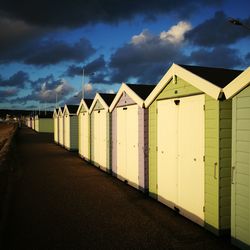
{"type": "Polygon", "coordinates": [[[217,87],[213,83],[173,63],[167,73],[162,77],[160,82],[156,85],[151,94],[145,100],[145,108],[149,107],[149,105],[160,94],[160,92],[169,84],[171,79],[173,79],[173,76],[179,76],[184,81],[190,83],[194,87],[200,89],[216,100],[219,98],[220,93],[222,92],[222,88],[217,87]]]}

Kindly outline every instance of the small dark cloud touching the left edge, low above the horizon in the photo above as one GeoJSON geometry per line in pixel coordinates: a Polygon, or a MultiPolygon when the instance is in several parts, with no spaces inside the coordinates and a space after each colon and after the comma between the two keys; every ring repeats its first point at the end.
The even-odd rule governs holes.
{"type": "Polygon", "coordinates": [[[26,72],[18,71],[8,79],[2,79],[0,76],[0,87],[24,88],[25,84],[30,82],[29,75],[26,72]]]}

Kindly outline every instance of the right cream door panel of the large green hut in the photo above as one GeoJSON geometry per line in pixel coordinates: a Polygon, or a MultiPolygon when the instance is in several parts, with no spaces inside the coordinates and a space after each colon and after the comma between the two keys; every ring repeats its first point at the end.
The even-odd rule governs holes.
{"type": "MultiPolygon", "coordinates": [[[[182,98],[179,110],[179,206],[204,219],[204,95],[182,98]]],[[[190,217],[189,216],[189,217],[190,217]]],[[[195,220],[195,218],[194,218],[195,220]]]]}

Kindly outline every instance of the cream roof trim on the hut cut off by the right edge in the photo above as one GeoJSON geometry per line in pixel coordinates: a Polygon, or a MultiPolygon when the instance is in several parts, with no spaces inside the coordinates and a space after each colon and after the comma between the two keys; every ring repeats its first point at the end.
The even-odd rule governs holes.
{"type": "Polygon", "coordinates": [[[238,75],[233,81],[231,81],[226,87],[223,88],[226,99],[232,98],[249,84],[250,67],[244,70],[240,75],[238,75]]]}

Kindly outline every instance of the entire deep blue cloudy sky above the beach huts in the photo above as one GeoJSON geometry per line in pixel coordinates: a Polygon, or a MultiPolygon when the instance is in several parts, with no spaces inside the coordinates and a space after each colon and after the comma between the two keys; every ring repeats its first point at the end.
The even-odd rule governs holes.
{"type": "Polygon", "coordinates": [[[250,29],[230,18],[250,27],[250,1],[3,0],[0,108],[78,104],[82,86],[93,98],[156,84],[172,63],[245,69],[250,29]]]}

